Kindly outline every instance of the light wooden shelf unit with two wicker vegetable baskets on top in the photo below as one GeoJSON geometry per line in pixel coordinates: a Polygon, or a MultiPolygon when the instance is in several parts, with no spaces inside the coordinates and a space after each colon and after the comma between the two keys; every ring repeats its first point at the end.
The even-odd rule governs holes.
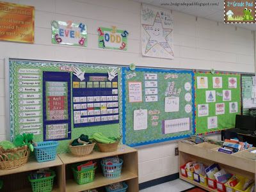
{"type": "Polygon", "coordinates": [[[84,157],[75,157],[72,154],[59,154],[58,155],[63,162],[65,168],[63,170],[63,175],[65,175],[64,186],[67,192],[78,192],[87,189],[100,188],[108,184],[113,184],[115,182],[125,181],[128,184],[128,192],[139,191],[138,184],[138,151],[134,148],[128,147],[127,145],[119,145],[118,150],[115,152],[99,152],[93,150],[92,154],[84,157]],[[115,179],[108,179],[104,177],[101,166],[100,159],[110,156],[120,156],[124,160],[122,166],[121,176],[115,179]],[[83,161],[97,161],[97,173],[95,173],[95,179],[93,182],[87,184],[79,185],[72,177],[72,172],[70,165],[74,163],[79,163],[83,161]]]}

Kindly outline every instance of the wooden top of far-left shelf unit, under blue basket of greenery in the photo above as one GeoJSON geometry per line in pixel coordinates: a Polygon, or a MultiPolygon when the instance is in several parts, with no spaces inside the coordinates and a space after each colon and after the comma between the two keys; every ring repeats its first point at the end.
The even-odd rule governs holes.
{"type": "Polygon", "coordinates": [[[10,174],[14,174],[14,173],[21,173],[21,172],[29,172],[32,170],[49,168],[52,166],[60,166],[62,164],[63,163],[58,156],[56,156],[56,159],[53,161],[46,161],[46,162],[42,162],[42,163],[38,163],[34,157],[31,157],[31,158],[29,158],[28,163],[24,164],[23,166],[20,166],[18,168],[12,169],[12,170],[1,170],[0,176],[10,175],[10,174]]]}

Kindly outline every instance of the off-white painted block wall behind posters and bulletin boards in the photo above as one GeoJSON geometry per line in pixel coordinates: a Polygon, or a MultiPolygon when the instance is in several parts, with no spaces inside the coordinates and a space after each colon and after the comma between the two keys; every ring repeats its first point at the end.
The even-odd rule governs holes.
{"type": "MultiPolygon", "coordinates": [[[[4,58],[81,61],[144,67],[195,68],[254,72],[252,31],[173,11],[174,60],[141,56],[140,3],[128,0],[13,0],[35,6],[35,44],[0,42],[0,140],[6,140],[4,58]],[[51,44],[51,20],[88,26],[88,47],[51,44]],[[129,31],[128,50],[98,48],[97,28],[129,31]]],[[[219,135],[213,136],[220,138],[219,135]]],[[[140,182],[178,172],[177,143],[139,149],[140,182]]]]}

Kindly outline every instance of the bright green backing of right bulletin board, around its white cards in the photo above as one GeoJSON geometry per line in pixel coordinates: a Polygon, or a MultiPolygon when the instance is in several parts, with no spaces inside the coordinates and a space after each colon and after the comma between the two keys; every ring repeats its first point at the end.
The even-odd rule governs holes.
{"type": "Polygon", "coordinates": [[[239,74],[211,74],[211,73],[195,73],[195,104],[196,104],[196,134],[204,134],[207,132],[221,131],[223,129],[232,128],[235,125],[236,114],[241,113],[241,87],[240,87],[240,75],[239,74]],[[198,89],[196,77],[208,77],[208,88],[198,89]],[[222,88],[213,88],[212,77],[222,77],[222,88]],[[228,88],[228,77],[237,78],[237,88],[228,88]],[[205,91],[215,90],[216,91],[216,102],[206,102],[205,91]],[[222,96],[218,96],[217,93],[221,93],[223,90],[231,90],[231,100],[223,101],[222,96]],[[215,104],[225,103],[225,114],[215,114],[215,104]],[[237,102],[238,113],[229,113],[229,102],[237,102]],[[207,117],[200,116],[197,114],[198,104],[209,104],[209,116],[218,117],[218,127],[214,129],[207,129],[207,117]]]}

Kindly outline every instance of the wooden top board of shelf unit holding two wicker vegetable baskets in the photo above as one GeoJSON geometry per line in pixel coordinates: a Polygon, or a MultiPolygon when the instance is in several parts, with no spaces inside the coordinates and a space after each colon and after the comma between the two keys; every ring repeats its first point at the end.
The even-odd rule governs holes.
{"type": "Polygon", "coordinates": [[[118,150],[115,152],[99,152],[93,150],[92,154],[89,154],[88,156],[84,157],[76,157],[72,156],[72,154],[59,154],[58,156],[60,157],[61,161],[64,164],[71,164],[71,163],[77,163],[77,162],[82,162],[82,161],[88,161],[92,159],[101,159],[104,157],[109,157],[109,156],[118,156],[122,154],[128,154],[132,152],[137,152],[136,149],[128,147],[127,145],[118,145],[118,150]]]}

